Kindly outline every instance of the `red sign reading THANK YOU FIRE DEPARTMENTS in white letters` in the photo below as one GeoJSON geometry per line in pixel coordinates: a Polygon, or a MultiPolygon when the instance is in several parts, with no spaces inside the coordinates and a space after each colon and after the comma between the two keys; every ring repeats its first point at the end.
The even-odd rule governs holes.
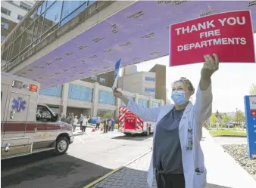
{"type": "Polygon", "coordinates": [[[255,63],[250,11],[212,14],[170,26],[170,66],[204,62],[255,63]]]}

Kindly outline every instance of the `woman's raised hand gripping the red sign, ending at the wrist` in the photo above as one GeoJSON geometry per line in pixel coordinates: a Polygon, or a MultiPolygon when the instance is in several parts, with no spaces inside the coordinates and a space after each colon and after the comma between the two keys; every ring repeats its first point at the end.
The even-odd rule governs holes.
{"type": "Polygon", "coordinates": [[[213,54],[213,57],[211,55],[204,55],[204,60],[204,66],[201,69],[201,78],[210,79],[214,72],[219,69],[220,60],[217,54],[213,54]]]}

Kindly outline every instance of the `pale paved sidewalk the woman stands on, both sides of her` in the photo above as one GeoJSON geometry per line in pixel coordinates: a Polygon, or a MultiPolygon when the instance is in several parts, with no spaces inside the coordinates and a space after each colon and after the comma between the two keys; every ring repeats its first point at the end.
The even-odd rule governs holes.
{"type": "MultiPolygon", "coordinates": [[[[205,188],[256,187],[256,181],[229,154],[225,153],[208,131],[204,129],[203,135],[205,139],[201,141],[201,146],[208,169],[208,184],[205,188]]],[[[151,152],[96,183],[92,188],[148,188],[146,177],[150,158],[151,152]]],[[[155,182],[153,187],[156,188],[155,182]]]]}

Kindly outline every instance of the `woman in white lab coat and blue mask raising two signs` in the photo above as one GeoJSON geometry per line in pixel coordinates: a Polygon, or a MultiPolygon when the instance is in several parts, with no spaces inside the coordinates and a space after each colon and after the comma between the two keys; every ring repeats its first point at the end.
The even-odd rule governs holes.
{"type": "Polygon", "coordinates": [[[213,57],[204,56],[195,105],[189,102],[195,89],[186,78],[172,85],[171,98],[174,104],[158,108],[139,106],[120,91],[114,91],[114,96],[123,100],[131,112],[144,121],[156,122],[147,179],[150,187],[154,173],[158,188],[203,188],[206,185],[200,140],[202,125],[211,116],[211,76],[219,68],[217,55],[213,54],[213,57]]]}

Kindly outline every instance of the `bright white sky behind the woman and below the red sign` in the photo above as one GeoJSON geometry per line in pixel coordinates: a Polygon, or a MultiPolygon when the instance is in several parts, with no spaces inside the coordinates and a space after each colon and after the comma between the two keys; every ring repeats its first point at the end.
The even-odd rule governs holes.
{"type": "MultiPolygon", "coordinates": [[[[256,54],[256,33],[254,33],[254,51],[256,54]]],[[[167,66],[167,89],[176,79],[184,76],[195,88],[198,87],[202,63],[169,67],[169,56],[139,63],[138,71],[148,71],[155,64],[167,66]]],[[[212,76],[213,112],[236,112],[236,108],[245,112],[244,96],[248,95],[252,83],[256,84],[256,63],[220,63],[219,70],[212,76]]],[[[170,92],[168,98],[170,99],[170,92]]],[[[195,99],[195,94],[193,100],[195,99]]],[[[194,100],[195,101],[195,100],[194,100]]]]}

